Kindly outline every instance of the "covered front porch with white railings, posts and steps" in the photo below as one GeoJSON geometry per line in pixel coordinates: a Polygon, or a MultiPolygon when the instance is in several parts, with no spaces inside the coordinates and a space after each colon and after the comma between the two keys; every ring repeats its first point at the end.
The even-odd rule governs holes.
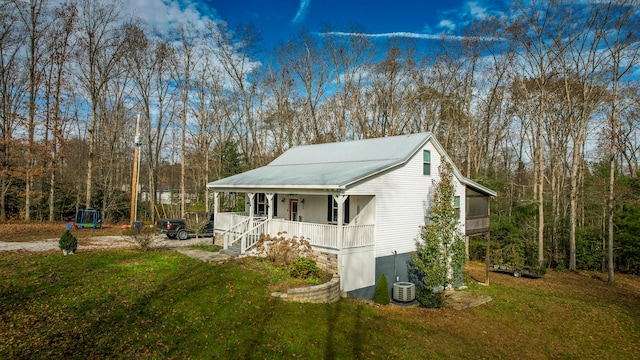
{"type": "Polygon", "coordinates": [[[219,196],[214,192],[214,227],[225,250],[239,244],[240,254],[245,254],[261,235],[284,233],[334,254],[375,244],[373,196],[350,201],[347,195],[246,193],[246,211],[241,213],[220,212],[219,196]]]}

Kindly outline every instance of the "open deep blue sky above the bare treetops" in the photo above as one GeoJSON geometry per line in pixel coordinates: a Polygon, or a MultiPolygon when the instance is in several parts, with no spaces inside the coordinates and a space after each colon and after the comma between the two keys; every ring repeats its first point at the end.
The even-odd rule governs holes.
{"type": "Polygon", "coordinates": [[[438,37],[459,34],[474,18],[499,15],[502,1],[490,0],[122,0],[125,11],[156,28],[178,21],[224,20],[231,28],[253,23],[261,47],[273,49],[301,27],[319,32],[323,24],[342,31],[358,24],[382,37],[438,37]]]}

